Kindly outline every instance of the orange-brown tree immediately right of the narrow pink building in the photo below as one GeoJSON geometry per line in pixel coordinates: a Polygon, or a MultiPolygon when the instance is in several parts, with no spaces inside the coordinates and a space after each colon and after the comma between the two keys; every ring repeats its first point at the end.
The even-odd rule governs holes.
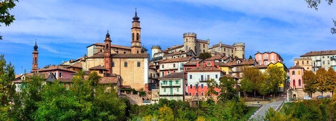
{"type": "Polygon", "coordinates": [[[303,84],[305,84],[305,88],[303,89],[304,92],[309,93],[310,96],[312,93],[316,92],[316,76],[311,70],[306,70],[303,72],[302,75],[303,84]]]}

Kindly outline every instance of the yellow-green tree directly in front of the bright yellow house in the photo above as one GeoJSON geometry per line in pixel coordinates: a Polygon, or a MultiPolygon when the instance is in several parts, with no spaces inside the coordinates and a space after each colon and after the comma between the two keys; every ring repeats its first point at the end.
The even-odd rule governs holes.
{"type": "Polygon", "coordinates": [[[267,83],[269,84],[269,88],[271,90],[270,93],[273,94],[277,93],[280,84],[284,83],[285,71],[281,70],[277,66],[269,66],[267,67],[265,73],[266,77],[263,81],[266,80],[267,83]]]}

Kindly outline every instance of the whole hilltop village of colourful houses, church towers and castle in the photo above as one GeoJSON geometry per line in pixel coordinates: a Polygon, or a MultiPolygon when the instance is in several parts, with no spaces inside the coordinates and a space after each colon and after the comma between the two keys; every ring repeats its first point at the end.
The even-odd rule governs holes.
{"type": "MultiPolygon", "coordinates": [[[[137,13],[133,17],[130,46],[111,44],[107,31],[105,39],[86,47],[87,53],[75,60],[71,59],[60,65],[38,68],[38,46],[33,47],[33,63],[30,73],[16,75],[14,83],[17,91],[20,84],[34,73],[43,74],[45,81],[59,80],[62,85],[70,88],[73,77],[80,70],[84,71],[85,79],[92,72],[102,78],[100,84],[113,84],[114,89],[123,98],[129,98],[133,104],[151,104],[160,98],[193,102],[197,98],[206,100],[207,82],[214,79],[215,98],[220,94],[219,79],[230,77],[236,80],[235,88],[241,86],[242,68],[254,67],[264,72],[270,66],[276,66],[285,73],[285,78],[278,86],[278,92],[287,93],[289,97],[303,97],[304,70],[316,73],[320,68],[335,70],[336,50],[311,51],[301,58],[295,58],[295,66],[288,68],[284,59],[276,52],[255,52],[252,58],[245,58],[243,42],[222,43],[209,46],[210,39],[197,38],[196,33],[181,33],[181,43],[172,47],[161,48],[160,45],[148,49],[141,44],[141,27],[137,13]],[[183,44],[182,44],[183,42],[183,44]],[[209,53],[211,57],[202,58],[200,54],[209,53]],[[152,59],[150,59],[152,58],[152,59]],[[146,92],[145,96],[132,94],[129,90],[146,92]]],[[[201,34],[201,33],[200,33],[201,34]]],[[[331,95],[324,93],[325,95],[331,95]]],[[[243,92],[238,95],[244,96],[243,92]]],[[[320,95],[319,92],[313,94],[320,95]]]]}

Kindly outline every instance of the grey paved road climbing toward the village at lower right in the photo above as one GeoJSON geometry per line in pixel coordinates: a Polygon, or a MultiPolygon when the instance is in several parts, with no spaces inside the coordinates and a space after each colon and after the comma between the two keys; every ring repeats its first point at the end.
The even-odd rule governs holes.
{"type": "Polygon", "coordinates": [[[278,100],[271,102],[271,103],[267,103],[267,104],[263,104],[263,107],[255,114],[252,116],[252,118],[258,118],[258,116],[265,116],[266,111],[269,109],[269,107],[272,107],[273,109],[275,109],[276,107],[278,107],[283,101],[285,100],[284,97],[280,97],[278,100]]]}

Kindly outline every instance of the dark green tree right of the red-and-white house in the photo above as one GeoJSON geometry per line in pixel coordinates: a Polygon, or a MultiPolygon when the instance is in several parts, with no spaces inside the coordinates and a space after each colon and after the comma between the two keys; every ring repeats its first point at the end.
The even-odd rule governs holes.
{"type": "Polygon", "coordinates": [[[220,95],[218,96],[219,99],[230,101],[235,98],[237,95],[237,90],[235,87],[236,80],[231,77],[223,76],[219,79],[219,88],[220,88],[220,95]]]}

